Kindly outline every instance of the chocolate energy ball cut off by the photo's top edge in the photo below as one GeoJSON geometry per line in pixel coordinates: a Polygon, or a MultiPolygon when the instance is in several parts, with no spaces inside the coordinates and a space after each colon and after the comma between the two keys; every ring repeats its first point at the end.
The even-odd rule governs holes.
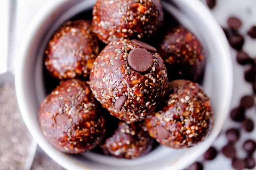
{"type": "Polygon", "coordinates": [[[105,43],[117,38],[148,38],[162,21],[160,0],[97,0],[93,8],[93,31],[105,43]]]}

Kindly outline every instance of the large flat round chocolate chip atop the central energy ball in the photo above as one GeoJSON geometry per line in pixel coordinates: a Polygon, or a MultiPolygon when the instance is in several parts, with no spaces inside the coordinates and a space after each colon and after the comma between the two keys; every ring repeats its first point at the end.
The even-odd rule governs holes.
{"type": "Polygon", "coordinates": [[[147,72],[153,67],[153,55],[144,48],[135,48],[128,54],[128,63],[135,71],[147,72]]]}

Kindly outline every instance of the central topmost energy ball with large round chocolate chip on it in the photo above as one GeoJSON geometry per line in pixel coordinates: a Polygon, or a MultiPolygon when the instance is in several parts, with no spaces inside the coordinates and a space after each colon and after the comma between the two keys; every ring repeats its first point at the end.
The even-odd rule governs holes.
{"type": "Polygon", "coordinates": [[[167,71],[155,49],[137,40],[110,42],[90,73],[95,98],[123,121],[150,115],[168,90],[167,71]]]}

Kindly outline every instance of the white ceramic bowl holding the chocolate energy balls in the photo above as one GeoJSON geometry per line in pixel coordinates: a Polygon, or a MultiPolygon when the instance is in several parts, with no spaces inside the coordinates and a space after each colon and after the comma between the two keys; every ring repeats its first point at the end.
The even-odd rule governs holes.
{"type": "MultiPolygon", "coordinates": [[[[211,97],[215,114],[214,126],[200,144],[175,150],[159,146],[135,160],[87,152],[69,155],[55,149],[43,136],[37,111],[45,97],[43,83],[43,53],[53,32],[75,14],[92,8],[95,1],[54,0],[47,3],[28,27],[16,57],[15,84],[20,111],[24,122],[40,147],[58,164],[69,170],[80,169],[171,169],[179,170],[193,163],[218,136],[228,115],[232,92],[232,66],[225,35],[208,9],[199,0],[173,0],[174,5],[163,2],[163,7],[188,27],[203,43],[207,52],[207,66],[203,82],[211,97]]],[[[51,83],[51,82],[49,82],[51,83]]]]}

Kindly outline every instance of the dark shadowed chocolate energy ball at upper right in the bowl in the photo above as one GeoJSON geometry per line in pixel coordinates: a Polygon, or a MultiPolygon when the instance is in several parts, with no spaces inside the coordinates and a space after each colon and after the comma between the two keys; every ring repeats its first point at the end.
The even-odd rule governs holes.
{"type": "Polygon", "coordinates": [[[205,68],[205,50],[199,40],[183,26],[172,27],[158,49],[165,61],[169,80],[197,82],[205,68]]]}

